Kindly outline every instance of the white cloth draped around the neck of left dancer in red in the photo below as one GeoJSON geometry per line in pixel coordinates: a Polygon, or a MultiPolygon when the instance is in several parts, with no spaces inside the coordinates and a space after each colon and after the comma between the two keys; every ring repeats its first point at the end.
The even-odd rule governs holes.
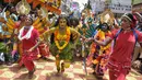
{"type": "Polygon", "coordinates": [[[32,34],[32,31],[33,31],[33,26],[31,26],[31,28],[28,30],[28,32],[24,35],[24,36],[22,36],[22,34],[23,34],[23,32],[24,32],[24,28],[25,28],[25,26],[23,26],[21,30],[20,30],[20,34],[19,34],[19,39],[20,41],[22,41],[22,39],[28,39],[28,38],[31,38],[31,34],[32,34]]]}

